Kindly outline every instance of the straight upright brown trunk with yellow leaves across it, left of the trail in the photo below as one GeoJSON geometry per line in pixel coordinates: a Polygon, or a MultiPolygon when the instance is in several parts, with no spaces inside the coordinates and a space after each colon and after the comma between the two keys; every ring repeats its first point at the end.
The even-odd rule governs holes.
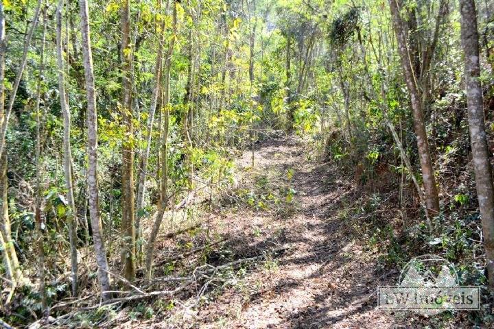
{"type": "Polygon", "coordinates": [[[122,118],[126,127],[126,141],[122,145],[122,219],[121,232],[124,238],[122,243],[122,264],[124,265],[124,278],[129,281],[135,279],[135,213],[134,213],[134,150],[132,139],[134,129],[132,126],[132,86],[131,86],[131,60],[130,51],[130,0],[122,0],[121,7],[121,61],[122,61],[122,118]]]}

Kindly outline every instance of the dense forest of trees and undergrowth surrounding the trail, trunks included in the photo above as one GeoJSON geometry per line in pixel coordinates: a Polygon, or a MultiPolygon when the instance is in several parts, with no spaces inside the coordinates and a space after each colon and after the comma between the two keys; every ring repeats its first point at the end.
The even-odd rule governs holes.
{"type": "MultiPolygon", "coordinates": [[[[226,240],[211,217],[232,204],[289,221],[292,169],[257,191],[235,160],[249,152],[253,170],[264,141],[294,136],[353,180],[339,220],[384,269],[437,254],[494,287],[492,1],[2,0],[0,29],[9,324],[76,321],[82,305],[95,325],[99,298],[171,312],[187,284],[152,282],[188,276],[154,259],[163,239],[202,236],[184,245],[203,268],[226,240]]],[[[214,273],[225,264],[240,263],[214,273]]],[[[451,317],[494,321],[472,314],[451,317]]]]}

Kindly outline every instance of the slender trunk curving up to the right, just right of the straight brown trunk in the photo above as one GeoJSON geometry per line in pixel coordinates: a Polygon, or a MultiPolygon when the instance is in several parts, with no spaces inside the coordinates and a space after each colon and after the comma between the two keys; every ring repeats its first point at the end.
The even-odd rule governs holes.
{"type": "Polygon", "coordinates": [[[174,35],[170,39],[168,45],[167,57],[165,58],[165,83],[164,83],[164,97],[163,97],[163,108],[165,109],[164,121],[164,131],[163,131],[163,141],[161,145],[161,206],[158,207],[158,213],[154,219],[153,228],[148,241],[148,248],[146,250],[146,264],[145,264],[145,278],[151,280],[152,276],[152,258],[154,252],[154,243],[156,243],[156,237],[158,236],[159,229],[161,227],[161,222],[163,221],[163,215],[167,209],[168,204],[168,125],[169,125],[169,85],[170,85],[170,69],[172,67],[172,53],[175,45],[175,39],[177,36],[177,23],[176,23],[176,3],[173,0],[173,21],[172,28],[174,35]]]}

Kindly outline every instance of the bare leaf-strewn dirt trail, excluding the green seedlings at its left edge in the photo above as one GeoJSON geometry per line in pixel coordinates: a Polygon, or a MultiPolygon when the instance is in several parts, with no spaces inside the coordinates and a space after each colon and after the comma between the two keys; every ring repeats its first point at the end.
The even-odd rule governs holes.
{"type": "Polygon", "coordinates": [[[237,254],[290,249],[202,306],[195,316],[201,328],[397,328],[392,315],[375,310],[377,285],[386,280],[378,255],[362,247],[341,218],[357,186],[311,160],[296,138],[261,143],[254,170],[250,157],[248,151],[237,163],[246,172],[240,184],[249,187],[262,176],[276,184],[293,169],[296,208],[282,216],[231,213],[222,219],[224,231],[237,239],[231,248],[237,254]]]}

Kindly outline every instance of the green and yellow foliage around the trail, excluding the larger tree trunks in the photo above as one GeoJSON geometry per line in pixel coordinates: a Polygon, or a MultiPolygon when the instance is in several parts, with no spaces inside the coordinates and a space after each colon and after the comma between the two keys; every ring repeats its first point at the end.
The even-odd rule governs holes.
{"type": "MultiPolygon", "coordinates": [[[[66,2],[62,12],[62,58],[67,66],[64,86],[71,112],[75,211],[67,200],[63,167],[64,120],[53,42],[54,1],[49,1],[47,7],[43,2],[47,21],[41,16],[33,42],[26,48],[27,64],[5,135],[6,176],[0,173],[8,183],[2,204],[8,205],[10,244],[19,253],[24,275],[36,284],[39,254],[43,251],[47,283],[43,293],[48,306],[71,295],[67,275],[71,219],[78,223],[78,256],[91,268],[91,273],[84,273],[79,293],[99,287],[95,264],[91,263],[93,230],[88,221],[86,182],[88,118],[79,7],[75,1],[66,2]],[[47,41],[44,62],[40,63],[45,24],[47,41]],[[37,247],[36,236],[38,207],[43,219],[41,248],[37,247]]],[[[383,254],[383,267],[402,265],[419,254],[438,254],[458,265],[465,284],[484,284],[484,236],[469,160],[458,8],[451,1],[445,2],[445,8],[443,1],[399,2],[403,2],[400,14],[407,29],[416,83],[420,84],[423,121],[441,191],[440,213],[432,219],[434,230],[425,227],[425,214],[412,182],[412,178],[419,184],[423,180],[410,97],[387,1],[132,0],[131,45],[126,49],[120,49],[122,2],[89,1],[97,94],[99,216],[112,267],[119,264],[116,249],[124,241],[119,232],[121,213],[128,206],[122,204],[122,195],[128,192],[122,185],[123,178],[127,178],[121,171],[126,164],[121,154],[123,147],[130,147],[135,154],[131,164],[134,190],[138,191],[139,184],[145,186],[144,206],[134,215],[146,225],[152,226],[149,220],[155,210],[162,206],[174,210],[192,191],[197,192],[201,202],[197,208],[185,206],[183,212],[188,219],[204,215],[203,212],[208,212],[209,217],[217,212],[221,218],[224,202],[231,202],[287,220],[298,209],[298,187],[293,180],[296,169],[261,173],[253,178],[253,187],[246,188],[237,184],[235,158],[239,150],[255,153],[258,143],[290,127],[320,151],[320,158],[335,164],[341,175],[353,178],[362,190],[362,195],[351,201],[355,207],[341,210],[341,220],[351,219],[366,247],[383,254]],[[168,58],[172,40],[175,45],[168,58]],[[161,58],[158,45],[163,45],[161,58]],[[132,62],[132,108],[124,112],[121,94],[125,58],[132,62]],[[425,60],[430,60],[431,65],[423,72],[421,64],[425,60]],[[161,80],[157,80],[161,69],[161,80]],[[169,86],[168,77],[163,76],[166,69],[169,86]],[[155,86],[161,88],[156,89],[158,106],[151,121],[155,86]],[[167,87],[169,102],[164,95],[167,87]],[[132,133],[125,121],[129,114],[132,133]],[[410,167],[402,158],[390,126],[397,132],[410,167]],[[148,164],[142,168],[148,147],[148,164]],[[144,181],[137,182],[142,171],[144,181]],[[167,203],[162,204],[163,200],[167,203]],[[397,212],[393,212],[392,219],[382,215],[391,211],[397,212]]],[[[486,125],[493,128],[494,27],[488,2],[478,3],[478,12],[486,13],[479,15],[480,81],[484,85],[486,125]]],[[[8,103],[37,1],[3,0],[2,4],[8,36],[8,47],[1,47],[6,51],[3,86],[8,103]]],[[[488,131],[490,142],[493,130],[488,131]]],[[[309,154],[307,158],[317,157],[309,154]]],[[[252,234],[261,237],[263,230],[255,228],[252,234]]],[[[138,249],[145,249],[148,243],[148,236],[137,236],[138,249]]],[[[3,251],[5,247],[8,245],[2,246],[3,251]]],[[[143,265],[143,256],[137,257],[138,267],[143,265]]],[[[276,271],[278,265],[270,260],[265,267],[276,271]]],[[[174,263],[163,266],[165,273],[176,270],[174,263]]],[[[3,265],[1,274],[6,275],[3,265]]],[[[242,273],[228,274],[231,278],[237,275],[242,273]]],[[[42,315],[42,294],[34,287],[37,286],[20,288],[10,308],[5,308],[12,314],[9,319],[14,324],[28,324],[42,315]]],[[[132,305],[131,317],[151,319],[175,307],[173,301],[163,303],[156,307],[132,305]]],[[[81,315],[79,321],[96,326],[113,317],[112,312],[110,308],[99,308],[81,315]]]]}

